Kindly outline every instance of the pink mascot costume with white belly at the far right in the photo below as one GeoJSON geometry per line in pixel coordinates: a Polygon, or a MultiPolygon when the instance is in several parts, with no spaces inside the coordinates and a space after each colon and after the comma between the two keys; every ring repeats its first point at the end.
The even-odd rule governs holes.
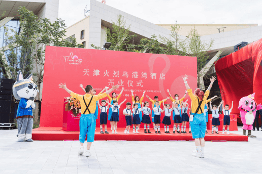
{"type": "Polygon", "coordinates": [[[246,135],[246,130],[248,130],[248,137],[256,137],[251,135],[251,130],[253,129],[253,122],[255,119],[255,111],[262,108],[261,104],[257,105],[254,101],[255,93],[246,97],[243,97],[239,101],[240,117],[243,123],[243,135],[246,135]]]}

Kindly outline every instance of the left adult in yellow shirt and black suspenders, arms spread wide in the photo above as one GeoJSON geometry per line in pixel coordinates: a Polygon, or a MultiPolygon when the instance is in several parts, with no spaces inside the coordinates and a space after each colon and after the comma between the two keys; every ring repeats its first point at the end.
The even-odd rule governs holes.
{"type": "Polygon", "coordinates": [[[79,141],[80,141],[80,148],[79,148],[79,154],[84,153],[84,142],[87,134],[87,150],[85,153],[85,156],[91,156],[90,153],[90,147],[92,142],[94,141],[94,129],[95,129],[95,105],[96,101],[105,98],[109,93],[111,93],[113,90],[116,90],[119,88],[119,85],[112,86],[112,89],[96,96],[93,96],[93,87],[91,85],[87,85],[85,87],[86,94],[84,96],[78,95],[76,93],[73,93],[71,90],[67,88],[67,85],[59,84],[59,88],[64,89],[67,91],[72,97],[75,99],[78,99],[80,101],[82,114],[79,121],[79,141]]]}

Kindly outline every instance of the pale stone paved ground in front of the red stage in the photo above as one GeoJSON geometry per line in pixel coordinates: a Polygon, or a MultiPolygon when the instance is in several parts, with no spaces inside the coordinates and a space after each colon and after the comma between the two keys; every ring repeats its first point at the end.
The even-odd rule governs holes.
{"type": "MultiPolygon", "coordinates": [[[[242,129],[234,133],[242,134],[242,129]]],[[[261,173],[262,132],[248,142],[206,142],[205,158],[193,142],[94,142],[91,157],[79,142],[17,143],[17,129],[0,130],[0,173],[261,173]]],[[[85,144],[86,145],[86,144],[85,144]]]]}

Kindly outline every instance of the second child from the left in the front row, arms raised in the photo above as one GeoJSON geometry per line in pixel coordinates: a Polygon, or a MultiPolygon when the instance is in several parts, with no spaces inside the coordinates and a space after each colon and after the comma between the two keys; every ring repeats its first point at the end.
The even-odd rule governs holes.
{"type": "Polygon", "coordinates": [[[112,116],[110,118],[110,121],[112,121],[112,126],[113,126],[112,134],[118,134],[117,133],[117,122],[119,121],[119,108],[125,101],[126,99],[124,99],[124,101],[120,103],[119,105],[118,105],[117,100],[113,100],[113,105],[111,105],[111,103],[107,101],[107,103],[111,106],[110,108],[112,109],[112,116]]]}

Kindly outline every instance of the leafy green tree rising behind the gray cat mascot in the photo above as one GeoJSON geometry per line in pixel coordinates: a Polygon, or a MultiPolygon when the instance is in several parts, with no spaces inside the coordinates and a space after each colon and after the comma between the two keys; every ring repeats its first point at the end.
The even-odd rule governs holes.
{"type": "MultiPolygon", "coordinates": [[[[16,74],[19,69],[22,69],[23,73],[33,72],[34,81],[40,90],[44,74],[45,47],[83,48],[83,45],[77,44],[75,38],[71,38],[71,42],[62,39],[66,31],[64,21],[61,19],[57,19],[54,23],[46,18],[40,18],[39,20],[32,11],[27,10],[25,7],[20,7],[18,13],[21,32],[13,31],[14,35],[7,36],[6,39],[9,42],[7,42],[5,51],[9,49],[10,53],[8,53],[7,57],[10,61],[4,66],[7,66],[13,74],[16,74]],[[20,49],[20,53],[15,52],[17,48],[20,49]],[[19,54],[21,55],[20,58],[19,54]]],[[[16,79],[16,76],[14,76],[14,79],[16,79]]],[[[35,123],[39,121],[39,99],[40,93],[36,96],[35,123]]]]}

